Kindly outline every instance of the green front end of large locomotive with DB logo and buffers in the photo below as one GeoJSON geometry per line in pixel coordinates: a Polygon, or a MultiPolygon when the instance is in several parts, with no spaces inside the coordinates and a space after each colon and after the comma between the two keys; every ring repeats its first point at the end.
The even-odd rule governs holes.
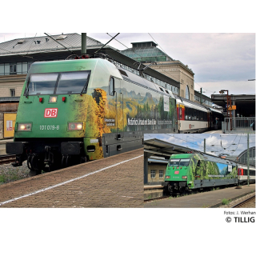
{"type": "Polygon", "coordinates": [[[6,152],[16,154],[16,166],[27,160],[31,175],[86,162],[86,119],[92,105],[86,90],[94,63],[72,64],[34,63],[26,77],[14,142],[6,144],[6,152]]]}

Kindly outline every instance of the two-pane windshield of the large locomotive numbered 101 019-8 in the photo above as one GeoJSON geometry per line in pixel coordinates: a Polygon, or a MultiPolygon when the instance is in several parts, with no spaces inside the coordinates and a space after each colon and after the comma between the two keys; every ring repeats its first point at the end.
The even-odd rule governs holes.
{"type": "Polygon", "coordinates": [[[26,95],[81,94],[86,89],[90,71],[31,74],[26,95]]]}

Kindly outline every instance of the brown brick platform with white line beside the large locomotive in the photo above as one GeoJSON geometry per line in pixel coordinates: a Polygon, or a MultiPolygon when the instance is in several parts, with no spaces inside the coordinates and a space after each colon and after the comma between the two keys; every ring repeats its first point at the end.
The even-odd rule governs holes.
{"type": "Polygon", "coordinates": [[[1,185],[0,207],[143,207],[143,149],[1,185]]]}

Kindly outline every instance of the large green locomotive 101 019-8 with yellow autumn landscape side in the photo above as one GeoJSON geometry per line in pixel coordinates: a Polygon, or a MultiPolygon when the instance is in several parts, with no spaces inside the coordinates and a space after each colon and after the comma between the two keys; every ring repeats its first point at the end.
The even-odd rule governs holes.
{"type": "Polygon", "coordinates": [[[170,90],[104,58],[35,62],[7,154],[30,174],[142,147],[144,133],[177,133],[170,90]]]}

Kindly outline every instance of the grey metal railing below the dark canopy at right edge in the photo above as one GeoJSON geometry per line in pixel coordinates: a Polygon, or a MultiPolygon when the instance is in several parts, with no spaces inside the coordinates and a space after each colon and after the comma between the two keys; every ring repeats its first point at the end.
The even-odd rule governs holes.
{"type": "Polygon", "coordinates": [[[254,134],[255,118],[224,118],[222,133],[254,134]]]}

